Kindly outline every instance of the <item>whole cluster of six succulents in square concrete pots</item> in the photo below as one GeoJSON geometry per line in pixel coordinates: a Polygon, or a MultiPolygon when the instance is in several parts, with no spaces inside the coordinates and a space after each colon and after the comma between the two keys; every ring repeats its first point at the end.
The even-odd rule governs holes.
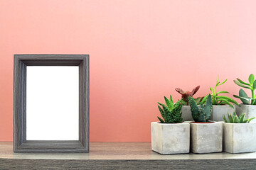
{"type": "Polygon", "coordinates": [[[252,97],[242,89],[239,96],[234,95],[242,104],[220,96],[228,91],[216,91],[226,81],[220,83],[218,77],[211,94],[204,97],[193,98],[200,86],[186,92],[176,88],[182,95],[176,103],[171,96],[164,97],[166,104],[158,106],[162,118],[151,123],[152,150],[160,154],[256,152],[256,80],[250,74],[249,83],[234,81],[252,91],[252,97]]]}

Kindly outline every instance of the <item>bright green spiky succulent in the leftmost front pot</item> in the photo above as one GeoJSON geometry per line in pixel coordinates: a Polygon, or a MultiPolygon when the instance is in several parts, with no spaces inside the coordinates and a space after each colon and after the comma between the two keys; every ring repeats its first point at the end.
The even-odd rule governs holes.
{"type": "Polygon", "coordinates": [[[161,116],[163,117],[163,119],[159,118],[157,116],[157,118],[160,120],[160,123],[181,123],[182,122],[182,118],[181,118],[181,108],[182,108],[182,103],[181,100],[177,101],[177,103],[174,104],[174,100],[170,95],[170,99],[166,98],[166,96],[164,96],[164,100],[166,102],[166,105],[164,105],[163,103],[159,103],[159,111],[161,113],[161,116]],[[162,106],[162,108],[160,107],[162,106]]]}

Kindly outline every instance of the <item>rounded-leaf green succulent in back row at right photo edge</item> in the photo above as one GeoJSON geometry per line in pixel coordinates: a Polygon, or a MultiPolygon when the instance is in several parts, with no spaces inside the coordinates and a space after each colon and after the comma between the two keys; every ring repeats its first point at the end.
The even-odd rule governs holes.
{"type": "Polygon", "coordinates": [[[244,104],[256,105],[256,94],[255,94],[256,80],[255,80],[255,77],[253,74],[250,74],[248,81],[249,81],[249,83],[245,83],[244,81],[242,81],[240,79],[234,80],[235,84],[238,84],[238,86],[241,86],[246,89],[250,89],[252,91],[252,96],[248,97],[243,89],[240,89],[239,96],[237,96],[237,95],[233,95],[233,96],[235,98],[240,98],[240,100],[244,104]]]}

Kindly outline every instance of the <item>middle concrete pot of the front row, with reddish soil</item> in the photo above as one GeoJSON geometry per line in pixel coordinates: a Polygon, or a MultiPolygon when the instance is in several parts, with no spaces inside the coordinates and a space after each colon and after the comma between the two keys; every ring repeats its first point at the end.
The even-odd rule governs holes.
{"type": "Polygon", "coordinates": [[[212,153],[223,150],[223,123],[190,123],[191,152],[212,153]]]}

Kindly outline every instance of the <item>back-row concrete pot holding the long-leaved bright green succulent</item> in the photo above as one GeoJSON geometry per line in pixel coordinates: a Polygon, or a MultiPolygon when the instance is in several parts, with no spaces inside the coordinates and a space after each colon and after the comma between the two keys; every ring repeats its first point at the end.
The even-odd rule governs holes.
{"type": "Polygon", "coordinates": [[[235,104],[233,104],[233,107],[234,108],[229,105],[213,105],[213,112],[210,115],[209,120],[224,121],[223,115],[225,115],[225,117],[227,118],[228,113],[233,114],[233,112],[235,111],[235,104]]]}

